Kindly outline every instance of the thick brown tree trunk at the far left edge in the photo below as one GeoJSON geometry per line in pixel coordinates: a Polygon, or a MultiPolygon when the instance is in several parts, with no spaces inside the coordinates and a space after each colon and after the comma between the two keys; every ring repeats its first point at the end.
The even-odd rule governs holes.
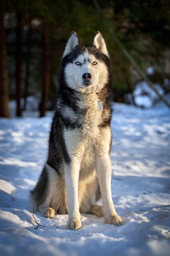
{"type": "Polygon", "coordinates": [[[7,42],[4,30],[4,0],[0,1],[0,117],[9,118],[7,42]]]}

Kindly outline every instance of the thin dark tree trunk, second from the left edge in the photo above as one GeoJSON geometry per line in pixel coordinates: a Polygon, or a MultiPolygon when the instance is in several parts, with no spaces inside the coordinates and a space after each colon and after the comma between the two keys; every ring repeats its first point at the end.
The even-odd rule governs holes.
{"type": "Polygon", "coordinates": [[[17,27],[16,27],[16,101],[17,101],[17,112],[16,115],[21,117],[21,65],[22,65],[22,11],[20,9],[17,10],[17,27]]]}

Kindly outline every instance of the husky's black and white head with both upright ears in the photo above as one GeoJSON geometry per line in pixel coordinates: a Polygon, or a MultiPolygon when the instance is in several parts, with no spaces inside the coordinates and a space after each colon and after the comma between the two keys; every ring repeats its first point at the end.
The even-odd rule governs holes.
{"type": "Polygon", "coordinates": [[[108,82],[109,54],[99,31],[90,45],[80,44],[77,34],[72,32],[62,62],[66,83],[72,89],[96,92],[108,82]]]}

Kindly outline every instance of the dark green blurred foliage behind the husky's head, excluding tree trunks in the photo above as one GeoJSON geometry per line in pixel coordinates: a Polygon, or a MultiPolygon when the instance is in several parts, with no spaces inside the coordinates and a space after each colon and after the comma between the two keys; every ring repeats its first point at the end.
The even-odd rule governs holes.
{"type": "MultiPolygon", "coordinates": [[[[82,43],[91,42],[94,33],[103,34],[110,57],[115,82],[115,90],[130,90],[130,85],[139,79],[129,61],[114,43],[109,27],[138,65],[145,71],[150,65],[161,69],[162,79],[168,77],[170,62],[170,2],[169,0],[98,0],[102,15],[91,0],[7,0],[6,11],[13,21],[18,9],[23,13],[23,34],[28,32],[28,17],[31,17],[31,83],[40,90],[42,72],[42,25],[47,23],[51,37],[51,97],[57,88],[60,59],[71,31],[76,31],[82,43]]],[[[15,29],[13,22],[11,30],[15,29]]],[[[9,25],[10,27],[10,25],[9,25]]],[[[10,36],[11,32],[8,34],[10,36]]],[[[8,30],[9,32],[9,30],[8,30]]],[[[8,48],[13,49],[8,40],[8,48]]],[[[26,40],[23,41],[23,52],[26,40]]],[[[9,55],[11,50],[9,49],[9,55]]],[[[23,55],[24,56],[24,55],[23,55]]],[[[9,56],[11,58],[11,55],[9,56]]],[[[14,58],[14,55],[13,55],[14,58]]],[[[23,57],[23,63],[25,59],[23,57]]],[[[9,67],[10,74],[13,68],[9,67]]],[[[12,76],[12,74],[11,74],[12,76]]],[[[32,89],[31,89],[32,87],[32,89]]]]}

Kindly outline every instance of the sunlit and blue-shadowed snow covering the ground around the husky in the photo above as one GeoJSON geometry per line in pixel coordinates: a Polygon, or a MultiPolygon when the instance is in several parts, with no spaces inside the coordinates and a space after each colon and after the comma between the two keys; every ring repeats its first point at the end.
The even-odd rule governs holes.
{"type": "Polygon", "coordinates": [[[170,110],[162,102],[145,110],[116,103],[114,110],[112,195],[123,225],[82,214],[76,231],[66,229],[67,215],[33,216],[29,205],[52,113],[0,119],[1,256],[170,255],[170,110]]]}

